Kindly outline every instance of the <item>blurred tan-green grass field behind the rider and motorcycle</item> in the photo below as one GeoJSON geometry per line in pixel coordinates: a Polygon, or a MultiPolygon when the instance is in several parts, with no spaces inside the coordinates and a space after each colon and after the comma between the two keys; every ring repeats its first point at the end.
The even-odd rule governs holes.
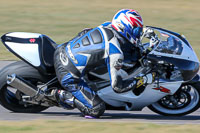
{"type": "MultiPolygon", "coordinates": [[[[0,35],[35,32],[64,43],[122,8],[137,10],[144,25],[184,34],[200,58],[200,0],[0,0],[0,35]]],[[[0,60],[16,59],[1,43],[0,60]]]]}

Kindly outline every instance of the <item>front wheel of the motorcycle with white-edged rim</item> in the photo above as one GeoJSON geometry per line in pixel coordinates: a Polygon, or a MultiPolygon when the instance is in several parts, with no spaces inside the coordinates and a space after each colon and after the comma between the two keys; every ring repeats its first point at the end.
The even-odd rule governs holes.
{"type": "Polygon", "coordinates": [[[184,84],[171,96],[165,96],[149,106],[155,113],[165,116],[183,116],[200,107],[200,82],[184,84]]]}

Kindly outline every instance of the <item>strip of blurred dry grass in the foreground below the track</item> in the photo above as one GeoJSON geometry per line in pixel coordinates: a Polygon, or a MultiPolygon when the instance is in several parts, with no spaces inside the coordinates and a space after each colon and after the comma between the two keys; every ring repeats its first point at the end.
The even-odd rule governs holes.
{"type": "Polygon", "coordinates": [[[199,125],[37,120],[0,122],[0,133],[199,133],[199,125]]]}

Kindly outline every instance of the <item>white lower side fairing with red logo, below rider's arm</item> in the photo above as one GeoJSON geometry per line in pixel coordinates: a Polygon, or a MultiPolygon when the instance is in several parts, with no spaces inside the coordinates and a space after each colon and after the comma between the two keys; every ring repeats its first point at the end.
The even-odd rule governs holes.
{"type": "Polygon", "coordinates": [[[170,93],[155,90],[153,88],[156,88],[157,84],[151,84],[146,86],[144,92],[139,96],[136,96],[132,91],[126,93],[115,93],[111,86],[98,91],[98,95],[103,101],[112,106],[124,106],[126,110],[141,110],[142,108],[157,102],[166,95],[173,95],[181,84],[181,82],[166,82],[159,84],[160,86],[169,89],[170,93]],[[131,103],[131,106],[128,106],[127,103],[131,103]]]}

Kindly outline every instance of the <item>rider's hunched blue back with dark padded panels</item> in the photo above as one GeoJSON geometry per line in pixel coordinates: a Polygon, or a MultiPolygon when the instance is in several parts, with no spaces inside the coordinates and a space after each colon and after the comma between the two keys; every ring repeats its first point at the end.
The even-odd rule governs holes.
{"type": "Polygon", "coordinates": [[[105,64],[106,45],[114,37],[113,31],[106,26],[84,30],[67,43],[67,56],[81,72],[105,64]]]}

